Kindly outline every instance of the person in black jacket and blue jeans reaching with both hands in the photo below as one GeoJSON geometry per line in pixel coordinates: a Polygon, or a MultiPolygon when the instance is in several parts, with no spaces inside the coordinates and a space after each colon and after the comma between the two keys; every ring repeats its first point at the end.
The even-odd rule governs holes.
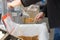
{"type": "MultiPolygon", "coordinates": [[[[15,7],[18,5],[29,6],[40,0],[14,0],[12,3],[8,3],[9,7],[15,7]]],[[[54,40],[60,40],[60,0],[47,0],[47,9],[48,21],[50,28],[54,28],[54,40]]],[[[42,20],[44,16],[44,11],[37,14],[35,19],[42,20]]]]}

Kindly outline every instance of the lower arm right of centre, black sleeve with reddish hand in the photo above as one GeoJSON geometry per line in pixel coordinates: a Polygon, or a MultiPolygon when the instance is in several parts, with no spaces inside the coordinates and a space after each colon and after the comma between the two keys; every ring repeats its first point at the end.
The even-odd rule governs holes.
{"type": "Polygon", "coordinates": [[[35,16],[35,20],[36,21],[41,21],[44,16],[47,16],[47,5],[44,6],[44,8],[40,11],[40,13],[38,13],[36,16],[35,16]]]}

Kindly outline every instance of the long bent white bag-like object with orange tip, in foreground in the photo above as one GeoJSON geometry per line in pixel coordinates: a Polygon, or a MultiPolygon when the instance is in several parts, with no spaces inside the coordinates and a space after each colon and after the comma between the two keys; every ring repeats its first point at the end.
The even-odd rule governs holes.
{"type": "Polygon", "coordinates": [[[3,22],[5,23],[4,25],[6,25],[7,31],[13,36],[34,37],[34,36],[38,35],[38,40],[49,40],[49,33],[47,30],[46,23],[17,24],[12,21],[10,15],[7,17],[3,17],[3,18],[5,18],[3,20],[3,22]],[[10,20],[10,21],[8,22],[8,20],[10,20]]]}

